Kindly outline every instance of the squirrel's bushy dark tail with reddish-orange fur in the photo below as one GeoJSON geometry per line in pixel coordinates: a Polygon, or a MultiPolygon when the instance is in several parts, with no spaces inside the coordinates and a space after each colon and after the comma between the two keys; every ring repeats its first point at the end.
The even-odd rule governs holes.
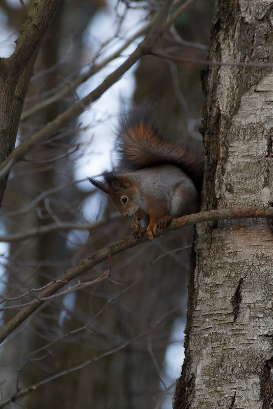
{"type": "Polygon", "coordinates": [[[118,127],[117,151],[120,164],[132,170],[164,163],[177,165],[201,191],[203,160],[185,145],[161,138],[151,107],[137,106],[122,116],[118,127]]]}

